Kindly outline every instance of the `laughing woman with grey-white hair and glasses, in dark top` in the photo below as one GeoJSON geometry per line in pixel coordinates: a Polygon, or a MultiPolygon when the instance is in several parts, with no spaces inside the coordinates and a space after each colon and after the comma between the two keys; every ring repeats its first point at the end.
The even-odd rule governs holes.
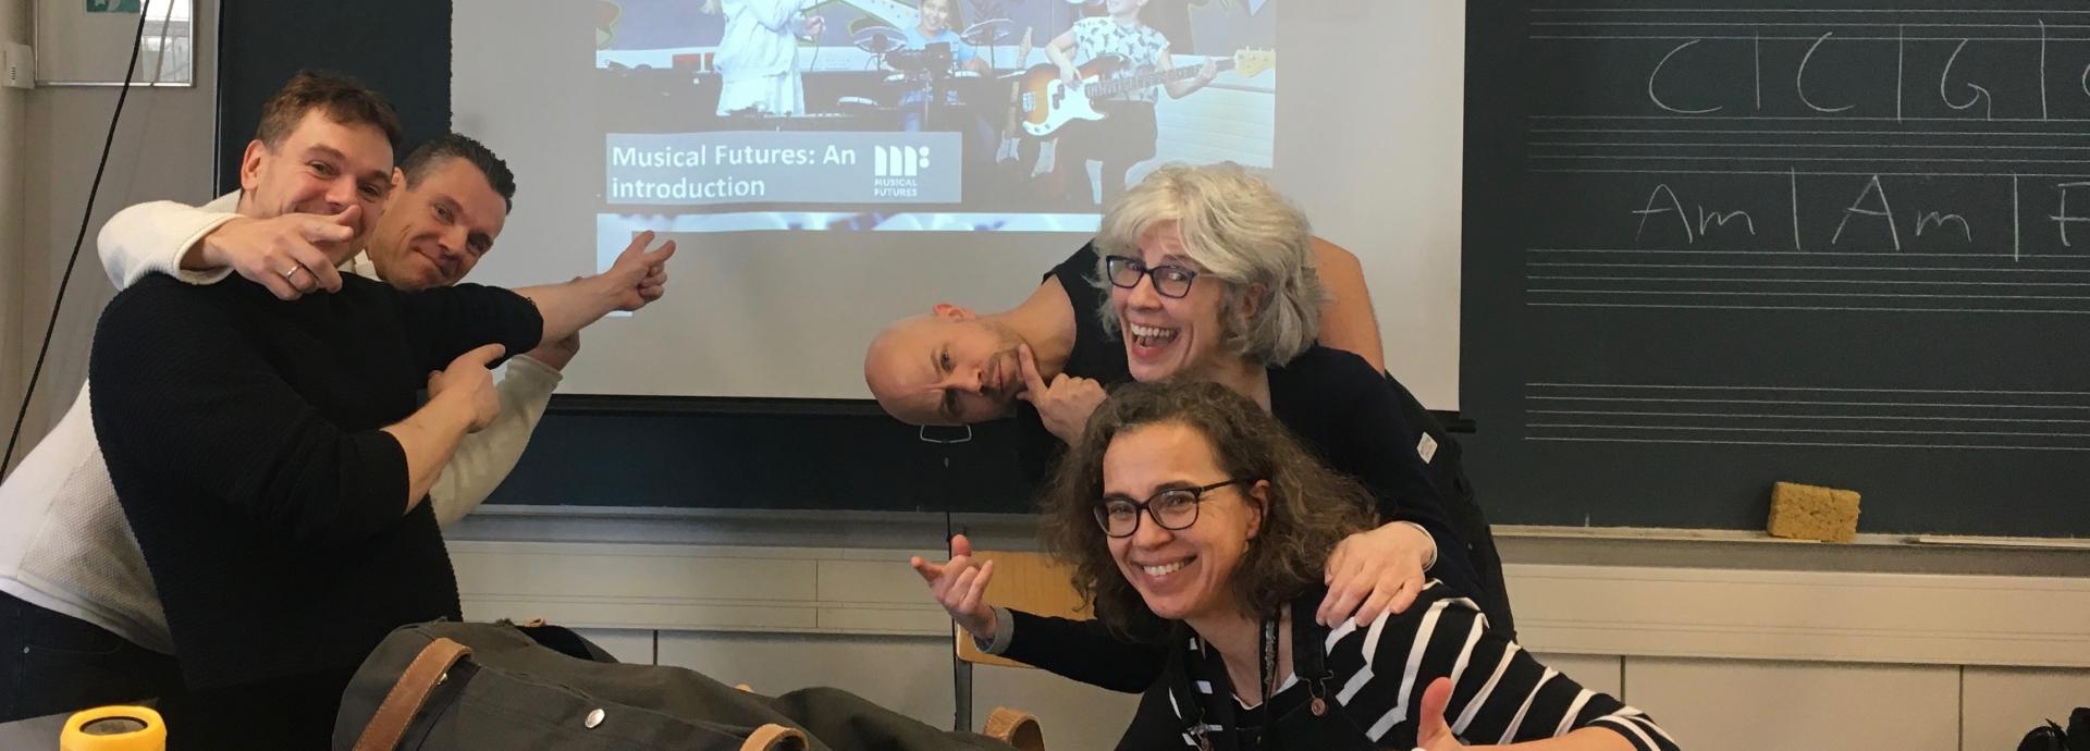
{"type": "MultiPolygon", "coordinates": [[[[1455,592],[1503,602],[1494,611],[1507,615],[1448,523],[1417,450],[1425,433],[1404,416],[1396,385],[1354,354],[1315,345],[1327,293],[1310,243],[1304,213],[1241,167],[1162,167],[1104,215],[1095,285],[1110,297],[1089,314],[1076,303],[1076,316],[1091,316],[1081,320],[1083,339],[1089,328],[1122,339],[1137,381],[1227,385],[1371,492],[1371,510],[1386,523],[1333,548],[1317,621],[1407,611],[1423,590],[1423,571],[1455,592]]],[[[1081,425],[1093,410],[1053,400],[1043,383],[1030,393],[1047,425],[1081,425]],[[1062,408],[1081,414],[1053,414],[1062,408]]],[[[951,563],[915,567],[991,653],[1116,690],[1143,690],[1160,674],[1166,653],[1156,644],[1110,644],[1112,634],[1095,621],[991,607],[991,571],[974,567],[963,540],[953,544],[951,563]]]]}

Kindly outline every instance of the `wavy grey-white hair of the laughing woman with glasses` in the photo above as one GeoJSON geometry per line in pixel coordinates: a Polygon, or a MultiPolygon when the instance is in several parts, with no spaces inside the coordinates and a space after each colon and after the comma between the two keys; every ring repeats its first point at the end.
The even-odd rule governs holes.
{"type": "MultiPolygon", "coordinates": [[[[1160,167],[1104,211],[1095,234],[1097,287],[1110,289],[1104,268],[1110,255],[1139,257],[1139,238],[1166,222],[1177,224],[1189,257],[1204,266],[1198,278],[1227,285],[1218,310],[1223,345],[1264,366],[1313,347],[1329,295],[1315,270],[1313,228],[1298,205],[1231,161],[1160,167]],[[1233,299],[1256,285],[1264,289],[1256,314],[1235,320],[1233,299]]],[[[1104,331],[1118,333],[1110,301],[1097,316],[1104,331]]]]}

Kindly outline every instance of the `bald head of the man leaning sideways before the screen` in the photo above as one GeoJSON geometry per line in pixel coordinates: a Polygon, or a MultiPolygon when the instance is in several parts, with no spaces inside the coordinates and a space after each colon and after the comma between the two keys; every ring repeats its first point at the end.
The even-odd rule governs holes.
{"type": "Polygon", "coordinates": [[[892,322],[863,354],[878,406],[909,425],[984,423],[1009,414],[1024,377],[1007,326],[957,305],[892,322]]]}

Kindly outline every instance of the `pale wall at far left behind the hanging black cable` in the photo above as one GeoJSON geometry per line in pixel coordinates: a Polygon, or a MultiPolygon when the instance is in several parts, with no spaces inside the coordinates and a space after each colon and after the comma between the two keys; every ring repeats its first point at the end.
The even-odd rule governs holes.
{"type": "MultiPolygon", "coordinates": [[[[21,42],[29,42],[31,0],[0,0],[0,19],[21,42]]],[[[130,48],[109,54],[130,56],[130,48]]],[[[8,379],[0,381],[4,427],[13,427],[21,406],[19,379],[36,364],[36,349],[50,320],[50,303],[65,274],[73,236],[94,167],[115,109],[115,88],[36,88],[0,94],[0,360],[8,379]],[[17,232],[19,228],[19,232],[17,232]],[[13,255],[8,255],[13,253],[13,255]]],[[[196,0],[196,86],[132,88],[123,121],[109,155],[79,268],[59,314],[50,360],[38,381],[36,404],[23,429],[17,458],[56,423],[79,393],[88,372],[94,320],[115,295],[94,255],[94,234],[117,209],[157,199],[203,203],[211,199],[211,151],[217,119],[217,0],[196,0]]]]}

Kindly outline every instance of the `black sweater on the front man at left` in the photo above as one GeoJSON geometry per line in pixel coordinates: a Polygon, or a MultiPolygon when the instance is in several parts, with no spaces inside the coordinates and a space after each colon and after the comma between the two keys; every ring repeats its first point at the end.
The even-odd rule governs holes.
{"type": "Polygon", "coordinates": [[[90,408],[192,688],[353,669],[401,623],[458,617],[428,504],[380,429],[431,370],[537,345],[504,289],[401,293],[355,276],[278,301],[150,276],[102,312],[90,408]]]}

